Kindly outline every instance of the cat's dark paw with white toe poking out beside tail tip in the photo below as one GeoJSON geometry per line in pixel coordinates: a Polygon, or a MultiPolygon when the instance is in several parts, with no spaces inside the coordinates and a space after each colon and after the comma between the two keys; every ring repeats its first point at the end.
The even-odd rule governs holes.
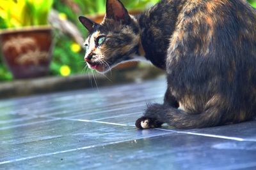
{"type": "Polygon", "coordinates": [[[162,123],[152,118],[141,117],[141,118],[138,118],[138,120],[136,120],[135,125],[138,129],[149,129],[149,128],[161,127],[162,123]]]}

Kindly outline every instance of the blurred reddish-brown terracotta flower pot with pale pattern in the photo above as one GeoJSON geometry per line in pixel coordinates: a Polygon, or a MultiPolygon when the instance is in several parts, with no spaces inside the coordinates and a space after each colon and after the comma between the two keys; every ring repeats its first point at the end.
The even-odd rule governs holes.
{"type": "Polygon", "coordinates": [[[0,31],[1,51],[14,78],[35,78],[49,72],[51,27],[24,27],[0,31]]]}

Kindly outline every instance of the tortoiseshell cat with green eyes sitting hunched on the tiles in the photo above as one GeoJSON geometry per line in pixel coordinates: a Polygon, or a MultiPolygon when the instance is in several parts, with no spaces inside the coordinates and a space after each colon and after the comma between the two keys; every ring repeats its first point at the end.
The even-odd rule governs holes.
{"type": "Polygon", "coordinates": [[[256,10],[244,0],[163,0],[137,17],[107,0],[90,32],[85,60],[100,73],[143,55],[164,69],[163,104],[148,106],[136,127],[163,123],[202,128],[256,117],[256,10]]]}

